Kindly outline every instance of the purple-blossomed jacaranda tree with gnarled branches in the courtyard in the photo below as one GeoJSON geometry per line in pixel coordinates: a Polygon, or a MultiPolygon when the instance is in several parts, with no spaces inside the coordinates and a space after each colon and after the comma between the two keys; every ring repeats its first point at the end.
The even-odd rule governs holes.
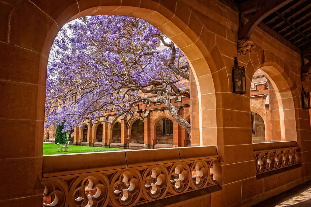
{"type": "Polygon", "coordinates": [[[62,131],[66,132],[90,119],[112,124],[132,113],[134,104],[148,101],[164,103],[190,135],[190,124],[169,100],[172,96],[189,97],[179,83],[181,78],[189,80],[189,65],[165,38],[148,22],[123,16],[82,17],[63,27],[50,53],[45,127],[64,124],[62,131]],[[165,48],[157,50],[160,42],[165,48]],[[138,97],[139,92],[156,94],[156,99],[138,97]],[[111,107],[118,113],[100,121],[111,107]]]}

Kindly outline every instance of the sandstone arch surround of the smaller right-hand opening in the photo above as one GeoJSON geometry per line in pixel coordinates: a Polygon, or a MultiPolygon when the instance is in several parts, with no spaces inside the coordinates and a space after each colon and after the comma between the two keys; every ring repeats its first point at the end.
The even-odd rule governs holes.
{"type": "Polygon", "coordinates": [[[289,78],[289,74],[292,73],[290,72],[286,62],[275,54],[269,51],[260,50],[257,51],[257,55],[257,57],[251,56],[251,59],[248,61],[246,67],[246,70],[248,70],[248,88],[250,88],[250,77],[253,77],[256,70],[261,69],[271,81],[277,97],[280,116],[281,140],[297,141],[297,132],[295,129],[296,118],[299,118],[299,115],[296,114],[295,108],[301,107],[301,100],[295,81],[289,78]],[[269,55],[269,59],[265,58],[267,55],[269,55]],[[258,57],[263,58],[260,60],[258,57]],[[269,61],[271,59],[278,60],[278,62],[269,61]]]}

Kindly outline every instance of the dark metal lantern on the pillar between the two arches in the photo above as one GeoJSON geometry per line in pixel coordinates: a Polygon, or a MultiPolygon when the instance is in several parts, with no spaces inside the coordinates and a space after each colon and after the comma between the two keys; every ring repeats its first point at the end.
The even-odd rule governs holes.
{"type": "Polygon", "coordinates": [[[234,57],[234,68],[232,70],[233,93],[246,94],[246,79],[244,66],[239,66],[237,57],[234,57]]]}

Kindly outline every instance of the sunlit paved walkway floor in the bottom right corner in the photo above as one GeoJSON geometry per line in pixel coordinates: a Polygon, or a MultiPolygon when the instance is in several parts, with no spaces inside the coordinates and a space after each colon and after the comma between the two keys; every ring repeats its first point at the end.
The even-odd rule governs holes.
{"type": "Polygon", "coordinates": [[[279,195],[264,200],[253,207],[311,207],[311,180],[279,195]]]}

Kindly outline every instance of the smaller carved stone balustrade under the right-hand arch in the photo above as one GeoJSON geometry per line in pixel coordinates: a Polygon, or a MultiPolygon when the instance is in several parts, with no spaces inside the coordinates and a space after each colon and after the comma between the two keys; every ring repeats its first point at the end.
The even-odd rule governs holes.
{"type": "Polygon", "coordinates": [[[256,173],[261,174],[298,164],[295,156],[297,149],[296,141],[253,144],[256,173]]]}

